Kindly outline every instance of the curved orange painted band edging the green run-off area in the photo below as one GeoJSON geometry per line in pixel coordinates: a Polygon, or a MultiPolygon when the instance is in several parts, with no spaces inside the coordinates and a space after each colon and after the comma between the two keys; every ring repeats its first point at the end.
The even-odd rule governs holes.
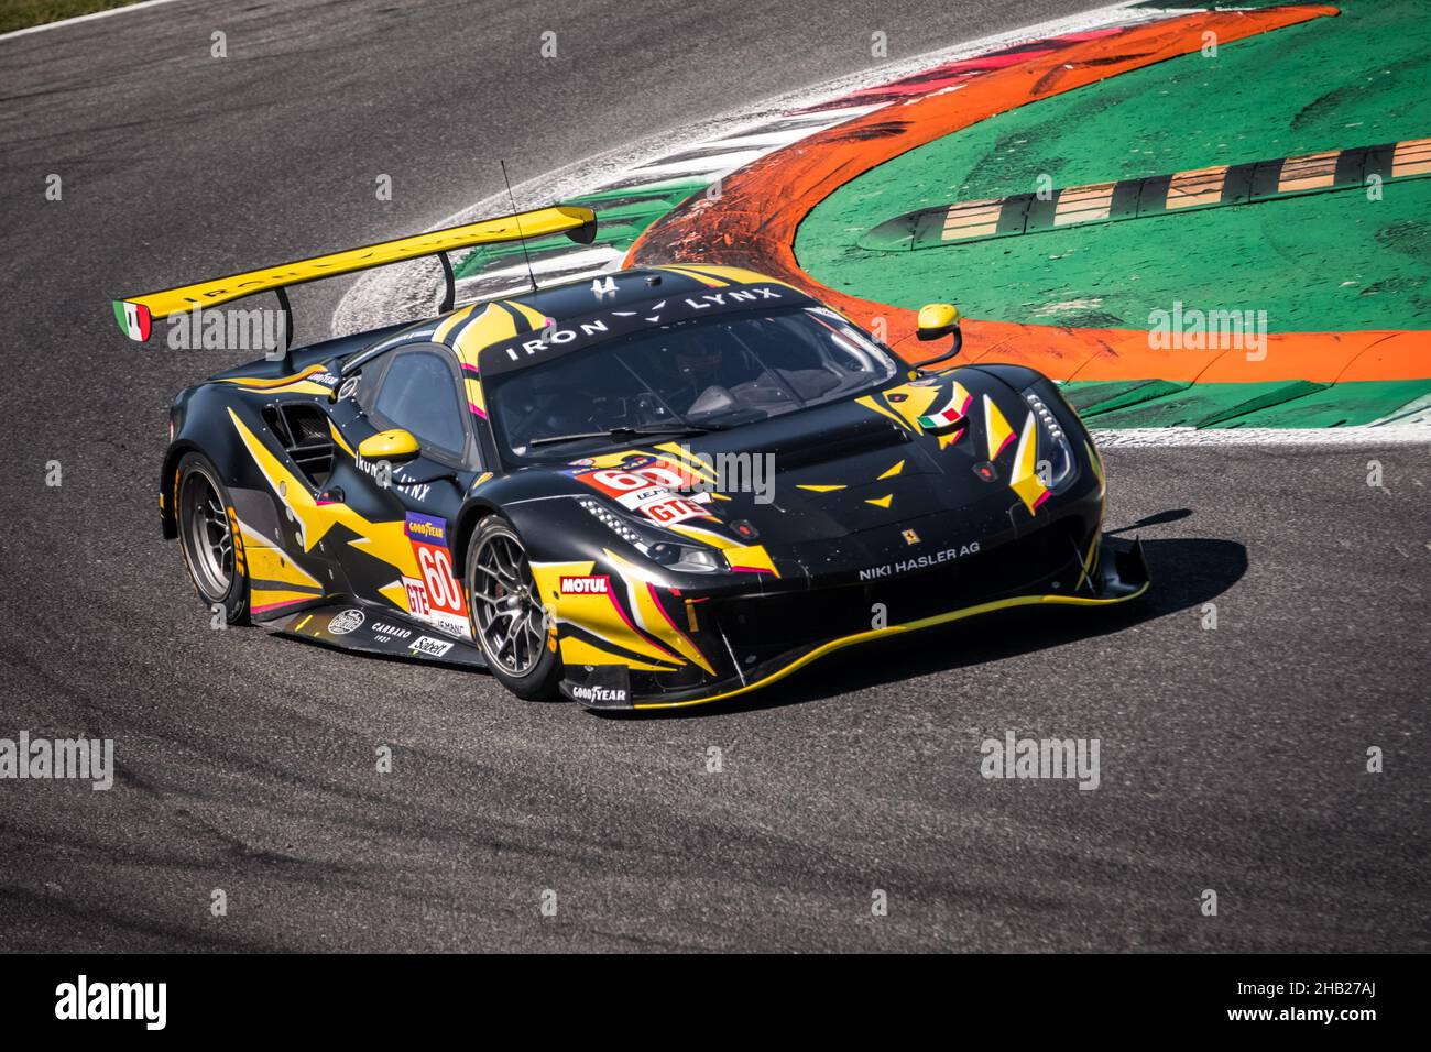
{"type": "MultiPolygon", "coordinates": [[[[625,263],[720,262],[760,271],[864,325],[883,318],[890,346],[917,361],[927,356],[927,349],[914,344],[913,311],[826,288],[800,269],[796,230],[816,205],[870,169],[997,113],[1198,52],[1203,33],[1231,43],[1335,14],[1335,7],[1324,4],[1198,11],[1033,53],[1025,62],[970,79],[959,92],[871,110],[766,155],[726,176],[718,200],[703,196],[698,209],[681,206],[647,228],[625,263]],[[897,135],[890,135],[892,123],[897,135]]],[[[1407,165],[1420,163],[1421,155],[1407,143],[1402,147],[1408,147],[1407,165]]],[[[1397,156],[1402,156],[1401,149],[1397,156]]],[[[1148,332],[1139,329],[993,321],[964,325],[966,361],[992,356],[1022,362],[1053,379],[1329,382],[1431,375],[1431,332],[1284,332],[1268,333],[1266,342],[1266,356],[1249,361],[1242,349],[1155,349],[1148,332]]]]}

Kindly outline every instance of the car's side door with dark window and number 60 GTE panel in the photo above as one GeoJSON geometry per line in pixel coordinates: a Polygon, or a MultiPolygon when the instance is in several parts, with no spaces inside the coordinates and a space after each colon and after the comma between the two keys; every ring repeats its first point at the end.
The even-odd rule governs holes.
{"type": "Polygon", "coordinates": [[[339,458],[331,500],[368,521],[365,541],[348,545],[352,594],[389,601],[452,635],[469,634],[467,601],[452,575],[449,531],[481,455],[452,352],[434,344],[394,349],[363,365],[333,419],[353,455],[339,458]],[[378,432],[401,428],[418,441],[411,459],[358,454],[378,432]]]}

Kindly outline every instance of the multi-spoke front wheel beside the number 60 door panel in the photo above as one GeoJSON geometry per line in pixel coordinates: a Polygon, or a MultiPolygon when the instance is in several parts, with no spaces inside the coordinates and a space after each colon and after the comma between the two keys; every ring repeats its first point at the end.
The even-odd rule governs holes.
{"type": "Polygon", "coordinates": [[[547,613],[512,524],[488,515],[467,545],[472,635],[487,667],[522,698],[557,697],[561,660],[551,648],[547,613]]]}

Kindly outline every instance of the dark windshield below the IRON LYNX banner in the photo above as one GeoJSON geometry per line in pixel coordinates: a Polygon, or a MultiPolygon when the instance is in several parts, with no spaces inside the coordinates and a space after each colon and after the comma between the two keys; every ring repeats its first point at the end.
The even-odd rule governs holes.
{"type": "Polygon", "coordinates": [[[790,308],[651,328],[509,374],[487,396],[518,458],[572,459],[831,402],[897,368],[836,312],[790,308]]]}

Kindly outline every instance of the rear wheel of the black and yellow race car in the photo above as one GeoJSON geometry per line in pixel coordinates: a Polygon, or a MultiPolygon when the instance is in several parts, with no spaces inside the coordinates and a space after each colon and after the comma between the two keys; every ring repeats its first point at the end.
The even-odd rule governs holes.
{"type": "Polygon", "coordinates": [[[207,457],[185,454],[175,485],[179,550],[199,598],[222,607],[229,624],[248,624],[249,577],[238,554],[233,502],[207,457]]]}

